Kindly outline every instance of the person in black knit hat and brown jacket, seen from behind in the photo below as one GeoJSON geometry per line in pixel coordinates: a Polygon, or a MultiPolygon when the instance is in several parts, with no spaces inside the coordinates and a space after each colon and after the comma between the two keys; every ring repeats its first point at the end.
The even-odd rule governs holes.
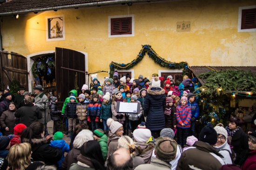
{"type": "Polygon", "coordinates": [[[202,128],[199,141],[183,151],[176,170],[218,170],[225,163],[223,156],[213,147],[217,137],[212,124],[202,128]]]}

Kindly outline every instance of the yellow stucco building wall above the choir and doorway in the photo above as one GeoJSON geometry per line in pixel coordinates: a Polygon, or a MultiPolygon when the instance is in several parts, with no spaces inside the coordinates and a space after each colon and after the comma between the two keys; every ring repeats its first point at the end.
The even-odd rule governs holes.
{"type": "MultiPolygon", "coordinates": [[[[149,44],[164,59],[189,65],[256,65],[256,32],[237,31],[238,8],[253,0],[188,0],[132,6],[58,10],[3,18],[3,48],[27,55],[63,47],[88,53],[88,72],[108,71],[109,63],[128,63],[141,45],[149,44]],[[65,40],[46,41],[46,17],[65,15],[65,40]],[[135,36],[108,38],[108,16],[135,15],[135,36]],[[76,20],[75,17],[80,19],[76,20]],[[190,32],[177,32],[176,22],[190,21],[190,32]]],[[[135,78],[158,70],[148,56],[133,67],[135,78]]],[[[106,73],[98,73],[99,78],[106,73]]]]}

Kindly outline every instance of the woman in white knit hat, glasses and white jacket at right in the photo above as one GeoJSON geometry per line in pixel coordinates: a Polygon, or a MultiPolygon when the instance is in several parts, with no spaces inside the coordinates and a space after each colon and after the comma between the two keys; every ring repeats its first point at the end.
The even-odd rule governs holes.
{"type": "Polygon", "coordinates": [[[223,124],[218,124],[214,127],[215,131],[217,132],[217,143],[214,145],[215,149],[218,150],[220,154],[222,154],[225,164],[232,164],[232,152],[230,146],[228,144],[228,132],[223,127],[223,124]]]}

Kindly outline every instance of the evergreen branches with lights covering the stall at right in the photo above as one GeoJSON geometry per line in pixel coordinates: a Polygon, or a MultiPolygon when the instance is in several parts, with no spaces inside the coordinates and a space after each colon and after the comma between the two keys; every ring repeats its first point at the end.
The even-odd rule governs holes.
{"type": "Polygon", "coordinates": [[[227,123],[233,111],[230,100],[233,95],[242,91],[256,92],[256,73],[241,70],[210,71],[198,75],[205,83],[196,89],[201,98],[199,105],[202,112],[202,123],[227,123]],[[232,93],[231,91],[235,91],[232,93]]]}

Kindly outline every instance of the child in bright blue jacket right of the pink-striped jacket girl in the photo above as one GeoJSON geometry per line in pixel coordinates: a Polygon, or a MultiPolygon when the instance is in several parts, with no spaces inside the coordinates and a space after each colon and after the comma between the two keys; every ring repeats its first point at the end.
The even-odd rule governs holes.
{"type": "Polygon", "coordinates": [[[191,115],[192,115],[190,119],[190,131],[191,131],[191,135],[195,136],[195,122],[199,116],[199,105],[195,100],[194,93],[189,92],[187,98],[188,98],[188,105],[191,108],[191,115]]]}

